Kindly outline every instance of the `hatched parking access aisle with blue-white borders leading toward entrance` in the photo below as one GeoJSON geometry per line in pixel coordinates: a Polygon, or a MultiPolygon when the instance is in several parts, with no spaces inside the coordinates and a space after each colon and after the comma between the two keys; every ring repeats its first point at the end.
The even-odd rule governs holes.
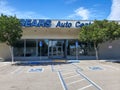
{"type": "Polygon", "coordinates": [[[83,75],[82,68],[76,64],[66,65],[52,65],[53,72],[59,72],[61,75],[60,81],[64,90],[84,90],[94,88],[95,90],[102,90],[96,83],[83,75]]]}

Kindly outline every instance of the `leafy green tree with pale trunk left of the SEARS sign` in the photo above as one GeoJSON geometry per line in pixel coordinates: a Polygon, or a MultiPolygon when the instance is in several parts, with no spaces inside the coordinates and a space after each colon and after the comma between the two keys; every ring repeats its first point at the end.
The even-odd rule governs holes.
{"type": "Polygon", "coordinates": [[[22,27],[16,16],[0,16],[0,41],[5,42],[11,52],[12,62],[14,61],[13,47],[22,36],[22,27]]]}

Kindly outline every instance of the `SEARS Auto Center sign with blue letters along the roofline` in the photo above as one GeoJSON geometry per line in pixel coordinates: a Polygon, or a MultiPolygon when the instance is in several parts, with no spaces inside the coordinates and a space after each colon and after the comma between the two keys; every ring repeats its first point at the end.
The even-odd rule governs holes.
{"type": "Polygon", "coordinates": [[[70,21],[70,20],[50,20],[50,19],[20,19],[23,27],[46,27],[46,28],[80,28],[90,25],[91,21],[70,21]]]}

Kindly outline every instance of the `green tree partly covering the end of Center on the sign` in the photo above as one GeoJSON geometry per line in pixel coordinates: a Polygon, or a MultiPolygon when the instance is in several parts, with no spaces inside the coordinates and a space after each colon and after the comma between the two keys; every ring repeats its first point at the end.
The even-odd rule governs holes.
{"type": "Polygon", "coordinates": [[[120,38],[120,25],[117,22],[108,20],[95,20],[93,24],[83,26],[79,34],[80,41],[94,43],[97,60],[99,59],[99,44],[117,38],[120,38]]]}

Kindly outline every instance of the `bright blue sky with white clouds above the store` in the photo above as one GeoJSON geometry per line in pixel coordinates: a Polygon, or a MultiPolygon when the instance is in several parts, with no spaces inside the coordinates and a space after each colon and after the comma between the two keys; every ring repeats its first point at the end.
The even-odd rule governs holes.
{"type": "Polygon", "coordinates": [[[120,20],[120,0],[0,0],[0,14],[22,19],[120,20]]]}

